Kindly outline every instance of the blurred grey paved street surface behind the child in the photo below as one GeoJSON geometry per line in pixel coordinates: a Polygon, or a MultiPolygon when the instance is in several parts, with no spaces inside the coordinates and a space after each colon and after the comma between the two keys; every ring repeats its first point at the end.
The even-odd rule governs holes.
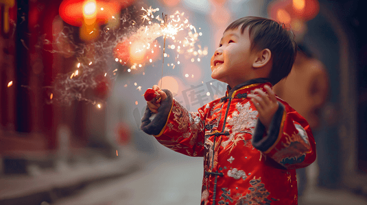
{"type": "MultiPolygon", "coordinates": [[[[142,155],[145,165],[137,172],[93,184],[80,193],[63,198],[55,205],[148,205],[200,204],[202,158],[159,150],[156,157],[142,155]]],[[[54,205],[53,204],[53,205],[54,205]]],[[[348,191],[307,189],[300,205],[367,204],[348,191]]]]}

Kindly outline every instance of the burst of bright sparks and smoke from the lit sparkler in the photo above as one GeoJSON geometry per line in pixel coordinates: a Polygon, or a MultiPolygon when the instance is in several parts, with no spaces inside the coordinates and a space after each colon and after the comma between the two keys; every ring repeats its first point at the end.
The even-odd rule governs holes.
{"type": "MultiPolygon", "coordinates": [[[[198,36],[202,36],[202,33],[199,32],[200,28],[197,30],[196,27],[191,25],[189,20],[185,18],[183,12],[176,11],[171,15],[162,13],[161,16],[155,13],[159,11],[159,8],[150,7],[146,9],[142,8],[141,10],[143,10],[143,15],[141,16],[143,23],[132,20],[131,17],[134,13],[126,13],[121,18],[112,16],[113,20],[121,20],[123,29],[121,27],[104,27],[102,29],[104,32],[100,36],[101,38],[93,42],[93,46],[73,42],[73,39],[70,38],[73,34],[73,29],[69,27],[64,27],[56,35],[54,38],[55,43],[40,38],[40,40],[44,41],[41,43],[45,45],[57,45],[58,50],[49,51],[45,49],[45,51],[67,56],[74,55],[78,58],[77,63],[73,66],[74,68],[71,69],[73,70],[72,72],[58,74],[54,85],[48,87],[51,90],[47,102],[70,105],[72,100],[85,100],[91,102],[97,108],[102,108],[104,105],[104,94],[108,93],[109,90],[107,88],[112,84],[109,81],[115,79],[115,75],[117,74],[117,69],[106,66],[107,61],[110,60],[110,56],[113,55],[113,60],[121,63],[123,66],[129,66],[130,68],[127,69],[128,72],[143,68],[146,64],[154,63],[154,59],[156,59],[155,55],[162,49],[157,40],[162,40],[161,37],[163,37],[161,87],[163,86],[163,69],[165,63],[167,64],[167,61],[169,61],[169,59],[165,58],[170,57],[170,52],[176,52],[171,55],[176,63],[169,62],[167,64],[172,69],[176,69],[177,67],[175,66],[182,64],[182,57],[194,59],[193,61],[200,61],[200,57],[207,55],[207,49],[196,44],[198,42],[198,36]],[[110,38],[112,36],[114,38],[110,38]],[[125,41],[126,44],[123,44],[119,49],[118,45],[125,41]],[[165,51],[166,46],[169,49],[167,51],[165,51]],[[99,53],[98,55],[93,55],[92,58],[86,55],[91,50],[91,47],[93,47],[95,53],[99,53]],[[117,53],[119,55],[116,55],[117,53]],[[132,59],[132,55],[137,56],[139,53],[145,54],[139,60],[132,59]],[[105,68],[109,68],[110,70],[106,70],[105,68]],[[105,81],[106,83],[104,83],[105,81]],[[92,97],[91,99],[87,97],[86,90],[90,88],[101,90],[98,87],[101,82],[104,85],[102,94],[95,94],[93,96],[95,98],[92,97]]],[[[8,87],[12,86],[12,83],[10,82],[8,87]]],[[[126,84],[123,87],[127,86],[126,84]]],[[[136,86],[136,90],[141,92],[142,87],[136,86]]]]}

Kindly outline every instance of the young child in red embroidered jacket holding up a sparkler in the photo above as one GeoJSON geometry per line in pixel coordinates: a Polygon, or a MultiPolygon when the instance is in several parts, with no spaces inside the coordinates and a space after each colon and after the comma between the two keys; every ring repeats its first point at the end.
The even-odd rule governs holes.
{"type": "Polygon", "coordinates": [[[283,25],[239,18],[211,58],[226,96],[189,112],[169,90],[152,87],[161,99],[147,102],[141,129],[171,150],[204,157],[201,204],[298,204],[295,169],[315,161],[316,144],[305,118],[272,91],[295,56],[283,25]]]}

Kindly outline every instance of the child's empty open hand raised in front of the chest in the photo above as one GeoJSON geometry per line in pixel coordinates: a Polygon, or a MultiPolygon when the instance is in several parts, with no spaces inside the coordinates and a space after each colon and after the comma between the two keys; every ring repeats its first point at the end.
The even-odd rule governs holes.
{"type": "Polygon", "coordinates": [[[269,130],[270,123],[279,105],[272,89],[268,85],[265,85],[264,88],[268,92],[268,95],[260,89],[255,89],[254,93],[259,95],[248,94],[247,96],[259,112],[260,122],[265,126],[266,130],[269,130]]]}

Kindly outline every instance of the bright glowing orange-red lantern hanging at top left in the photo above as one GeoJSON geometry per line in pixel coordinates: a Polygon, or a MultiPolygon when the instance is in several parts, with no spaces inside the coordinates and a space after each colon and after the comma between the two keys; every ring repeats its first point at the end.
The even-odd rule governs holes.
{"type": "Polygon", "coordinates": [[[98,36],[98,26],[108,23],[119,10],[117,1],[64,0],[59,14],[66,23],[81,27],[80,38],[93,40],[98,36]]]}

